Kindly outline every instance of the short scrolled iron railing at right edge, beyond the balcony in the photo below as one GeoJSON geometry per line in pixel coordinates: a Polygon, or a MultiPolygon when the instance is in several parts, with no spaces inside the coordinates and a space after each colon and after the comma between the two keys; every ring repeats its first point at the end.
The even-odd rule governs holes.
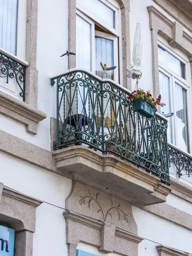
{"type": "Polygon", "coordinates": [[[169,167],[171,167],[171,164],[176,167],[179,178],[183,175],[190,177],[192,175],[192,158],[171,146],[168,146],[168,151],[169,167]]]}

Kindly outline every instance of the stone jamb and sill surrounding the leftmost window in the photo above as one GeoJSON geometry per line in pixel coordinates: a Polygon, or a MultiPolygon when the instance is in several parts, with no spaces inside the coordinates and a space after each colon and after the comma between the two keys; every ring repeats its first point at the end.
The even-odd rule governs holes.
{"type": "Polygon", "coordinates": [[[38,0],[26,0],[26,100],[25,102],[0,91],[0,113],[26,125],[26,131],[37,134],[38,122],[47,115],[38,111],[37,24],[38,0]]]}

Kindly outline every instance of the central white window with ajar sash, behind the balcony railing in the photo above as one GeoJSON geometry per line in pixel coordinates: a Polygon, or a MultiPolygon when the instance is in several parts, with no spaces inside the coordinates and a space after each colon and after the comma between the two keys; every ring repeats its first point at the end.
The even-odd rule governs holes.
{"type": "Polygon", "coordinates": [[[114,65],[107,76],[119,83],[119,6],[115,1],[76,0],[76,8],[76,67],[102,77],[100,61],[114,65]]]}

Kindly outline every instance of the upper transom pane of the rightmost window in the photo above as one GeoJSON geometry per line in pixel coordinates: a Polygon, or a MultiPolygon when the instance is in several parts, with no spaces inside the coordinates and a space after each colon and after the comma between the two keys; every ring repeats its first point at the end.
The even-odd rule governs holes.
{"type": "Polygon", "coordinates": [[[172,54],[162,49],[161,47],[158,47],[158,58],[163,65],[175,72],[178,76],[186,79],[185,64],[183,62],[175,58],[172,54]]]}

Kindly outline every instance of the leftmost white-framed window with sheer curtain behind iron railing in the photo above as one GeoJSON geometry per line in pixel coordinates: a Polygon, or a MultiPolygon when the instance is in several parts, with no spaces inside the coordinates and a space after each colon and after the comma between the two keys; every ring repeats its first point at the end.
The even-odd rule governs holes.
{"type": "MultiPolygon", "coordinates": [[[[23,88],[23,83],[19,79],[19,74],[16,75],[17,71],[14,73],[13,69],[23,72],[23,68],[18,63],[24,64],[21,60],[25,60],[25,44],[26,0],[2,0],[0,4],[0,90],[17,99],[23,99],[18,85],[20,84],[23,88]],[[11,62],[13,66],[10,64],[8,67],[3,64],[4,55],[18,63],[11,62]]],[[[6,57],[6,60],[8,58],[6,57]]]]}

